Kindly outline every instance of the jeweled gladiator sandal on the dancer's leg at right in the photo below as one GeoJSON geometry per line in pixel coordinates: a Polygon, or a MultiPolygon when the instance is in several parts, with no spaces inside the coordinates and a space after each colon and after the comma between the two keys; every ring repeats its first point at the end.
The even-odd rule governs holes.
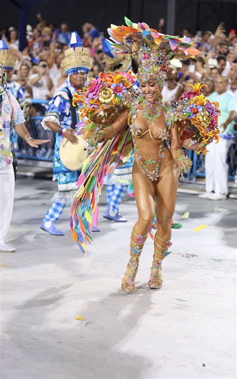
{"type": "Polygon", "coordinates": [[[167,241],[161,238],[157,233],[154,237],[154,255],[153,261],[151,265],[150,279],[148,281],[148,286],[151,289],[161,288],[162,285],[162,275],[161,275],[161,263],[162,259],[165,258],[171,251],[168,251],[168,247],[172,245],[170,239],[167,241]],[[157,239],[158,239],[158,243],[157,239]],[[161,244],[165,244],[165,247],[160,246],[161,244]]]}

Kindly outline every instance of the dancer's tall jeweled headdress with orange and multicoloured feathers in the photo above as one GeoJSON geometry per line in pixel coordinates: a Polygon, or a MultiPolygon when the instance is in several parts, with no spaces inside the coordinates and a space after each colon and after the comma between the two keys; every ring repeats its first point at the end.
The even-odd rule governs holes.
{"type": "Polygon", "coordinates": [[[127,26],[111,25],[108,28],[111,46],[118,54],[129,54],[138,63],[138,79],[141,81],[157,80],[162,86],[166,67],[171,64],[181,66],[178,57],[193,57],[199,53],[190,38],[161,34],[150,28],[145,22],[133,23],[124,18],[127,26]]]}

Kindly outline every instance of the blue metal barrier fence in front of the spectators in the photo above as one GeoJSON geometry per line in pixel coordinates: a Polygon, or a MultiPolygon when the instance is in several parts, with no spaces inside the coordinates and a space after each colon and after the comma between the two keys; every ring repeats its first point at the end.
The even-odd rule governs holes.
{"type": "MultiPolygon", "coordinates": [[[[25,125],[34,138],[50,139],[47,145],[40,145],[39,148],[30,147],[19,136],[13,139],[16,156],[18,159],[34,159],[41,161],[52,161],[53,147],[55,143],[55,134],[50,130],[44,130],[40,122],[44,116],[48,101],[31,100],[31,104],[35,109],[35,114],[30,116],[26,114],[27,121],[25,125]]],[[[235,131],[235,143],[232,143],[228,151],[227,162],[229,165],[228,178],[234,180],[236,176],[236,140],[237,131],[235,131]]],[[[193,161],[192,169],[186,174],[187,180],[196,180],[197,177],[205,177],[205,157],[202,154],[197,155],[193,150],[187,150],[185,153],[193,161]]]]}

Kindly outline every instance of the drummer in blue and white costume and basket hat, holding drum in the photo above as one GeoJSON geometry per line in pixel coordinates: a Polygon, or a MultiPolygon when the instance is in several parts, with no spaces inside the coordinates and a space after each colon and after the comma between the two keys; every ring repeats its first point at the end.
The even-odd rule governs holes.
{"type": "Polygon", "coordinates": [[[77,143],[73,128],[79,119],[71,101],[75,91],[83,88],[92,66],[89,49],[83,47],[83,42],[76,31],[71,33],[69,47],[65,50],[65,56],[61,61],[61,67],[68,75],[65,87],[49,102],[45,117],[41,121],[45,129],[56,133],[53,178],[57,180],[58,190],[52,197],[52,205],[41,222],[41,229],[53,235],[64,235],[64,232],[56,227],[55,221],[60,217],[67,201],[71,203],[80,174],[80,171],[70,171],[62,164],[59,157],[59,146],[63,137],[71,143],[77,143]]]}

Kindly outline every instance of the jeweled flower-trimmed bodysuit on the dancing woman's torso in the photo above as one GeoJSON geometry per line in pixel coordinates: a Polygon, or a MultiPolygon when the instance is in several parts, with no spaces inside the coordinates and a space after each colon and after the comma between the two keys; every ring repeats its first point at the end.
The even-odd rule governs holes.
{"type": "Polygon", "coordinates": [[[128,114],[128,124],[132,133],[135,160],[142,167],[146,176],[156,184],[159,180],[160,165],[168,148],[169,131],[167,127],[159,128],[157,135],[152,135],[150,129],[142,130],[140,123],[143,123],[143,119],[137,117],[138,111],[138,103],[132,102],[128,114]],[[147,166],[151,166],[151,168],[149,169],[147,166]]]}

